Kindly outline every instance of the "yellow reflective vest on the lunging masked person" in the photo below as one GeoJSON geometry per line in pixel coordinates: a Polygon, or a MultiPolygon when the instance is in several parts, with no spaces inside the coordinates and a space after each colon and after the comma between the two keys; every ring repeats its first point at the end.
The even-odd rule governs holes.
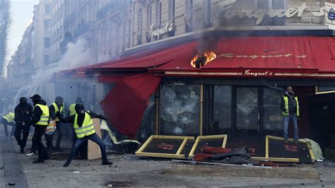
{"type": "Polygon", "coordinates": [[[90,114],[85,112],[85,119],[81,127],[78,126],[78,114],[76,114],[74,118],[74,131],[79,139],[95,134],[94,124],[92,118],[90,118],[90,114]]]}

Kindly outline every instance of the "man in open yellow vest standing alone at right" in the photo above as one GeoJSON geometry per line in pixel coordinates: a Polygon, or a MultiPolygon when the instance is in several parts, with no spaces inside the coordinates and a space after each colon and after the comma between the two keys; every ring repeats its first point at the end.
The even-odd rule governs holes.
{"type": "Polygon", "coordinates": [[[300,118],[298,97],[293,93],[293,88],[288,86],[281,99],[281,111],[283,112],[283,134],[285,143],[288,142],[288,124],[292,122],[294,129],[294,141],[298,143],[298,119],[300,118]]]}

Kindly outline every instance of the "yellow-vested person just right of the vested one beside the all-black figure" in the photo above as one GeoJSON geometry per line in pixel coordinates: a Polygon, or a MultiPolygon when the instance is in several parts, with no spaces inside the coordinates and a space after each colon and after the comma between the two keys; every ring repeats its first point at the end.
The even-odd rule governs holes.
{"type": "Polygon", "coordinates": [[[47,138],[47,148],[49,151],[61,151],[60,145],[61,145],[61,138],[63,137],[64,133],[64,127],[63,124],[61,124],[61,121],[59,121],[60,116],[65,115],[65,109],[64,109],[64,99],[60,96],[58,96],[52,105],[49,106],[49,112],[50,112],[50,120],[54,120],[56,122],[56,130],[58,132],[57,136],[57,142],[56,142],[56,148],[54,148],[54,134],[51,135],[45,135],[47,138]]]}

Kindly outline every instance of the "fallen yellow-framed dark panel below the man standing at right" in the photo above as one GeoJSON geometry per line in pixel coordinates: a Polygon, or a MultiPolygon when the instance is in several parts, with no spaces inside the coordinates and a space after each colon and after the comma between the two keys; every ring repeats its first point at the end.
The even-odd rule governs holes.
{"type": "Polygon", "coordinates": [[[266,158],[295,163],[312,163],[315,161],[314,154],[307,141],[294,143],[293,139],[284,142],[282,137],[266,136],[266,158]]]}

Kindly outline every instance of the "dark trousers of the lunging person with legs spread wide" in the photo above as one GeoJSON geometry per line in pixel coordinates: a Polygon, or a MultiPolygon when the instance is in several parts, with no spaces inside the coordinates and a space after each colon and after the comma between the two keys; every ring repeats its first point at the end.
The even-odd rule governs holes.
{"type": "Polygon", "coordinates": [[[91,134],[90,136],[84,136],[81,139],[77,139],[76,143],[74,143],[74,146],[71,148],[71,152],[69,154],[69,158],[67,159],[66,163],[71,163],[71,160],[74,158],[74,155],[76,155],[76,151],[78,150],[79,146],[81,146],[86,141],[94,141],[97,143],[100,147],[101,155],[102,155],[102,163],[107,162],[107,153],[106,153],[106,147],[105,144],[102,142],[100,137],[97,134],[91,134]]]}

